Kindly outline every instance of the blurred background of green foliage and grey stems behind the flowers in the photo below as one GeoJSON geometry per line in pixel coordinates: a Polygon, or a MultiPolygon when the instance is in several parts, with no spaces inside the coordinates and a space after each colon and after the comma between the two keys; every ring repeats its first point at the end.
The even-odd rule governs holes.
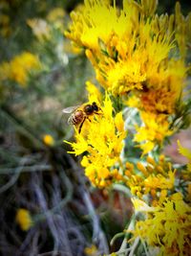
{"type": "MultiPolygon", "coordinates": [[[[120,237],[108,244],[132,214],[123,194],[91,187],[63,142],[74,130],[62,109],[86,102],[85,81],[96,82],[84,52],[64,37],[81,2],[0,0],[1,255],[116,251],[120,237]]],[[[174,6],[159,1],[159,13],[174,6]]]]}

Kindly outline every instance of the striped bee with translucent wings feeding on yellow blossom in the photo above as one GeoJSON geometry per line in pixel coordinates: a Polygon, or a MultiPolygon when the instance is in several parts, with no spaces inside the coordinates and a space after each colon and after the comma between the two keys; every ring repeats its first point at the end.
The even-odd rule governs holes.
{"type": "Polygon", "coordinates": [[[86,119],[91,122],[89,116],[92,116],[94,114],[99,115],[99,110],[100,107],[98,107],[94,102],[87,105],[69,106],[67,108],[64,108],[62,112],[68,114],[71,113],[71,116],[68,119],[68,124],[78,127],[78,132],[80,133],[86,119]]]}

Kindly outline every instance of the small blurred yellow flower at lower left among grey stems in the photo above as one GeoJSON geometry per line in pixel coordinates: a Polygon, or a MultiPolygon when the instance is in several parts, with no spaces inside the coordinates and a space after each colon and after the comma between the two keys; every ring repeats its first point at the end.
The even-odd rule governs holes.
{"type": "Polygon", "coordinates": [[[15,220],[23,231],[27,231],[32,227],[32,217],[26,209],[18,209],[15,220]]]}

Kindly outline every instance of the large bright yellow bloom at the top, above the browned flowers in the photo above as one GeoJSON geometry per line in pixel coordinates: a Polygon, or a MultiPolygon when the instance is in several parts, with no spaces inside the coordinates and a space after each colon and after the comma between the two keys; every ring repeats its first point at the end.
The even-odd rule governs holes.
{"type": "MultiPolygon", "coordinates": [[[[148,3],[123,1],[123,8],[117,10],[115,2],[110,6],[105,1],[85,1],[80,10],[72,12],[73,22],[65,34],[87,49],[97,80],[113,94],[146,86],[162,88],[178,99],[187,70],[182,59],[172,54],[169,58],[176,47],[174,16],[158,16],[157,1],[148,3]]],[[[189,28],[188,21],[184,23],[189,28]]],[[[183,40],[186,35],[181,36],[183,40]]],[[[167,107],[171,110],[173,104],[167,107]]],[[[159,103],[158,108],[164,105],[159,103]]]]}

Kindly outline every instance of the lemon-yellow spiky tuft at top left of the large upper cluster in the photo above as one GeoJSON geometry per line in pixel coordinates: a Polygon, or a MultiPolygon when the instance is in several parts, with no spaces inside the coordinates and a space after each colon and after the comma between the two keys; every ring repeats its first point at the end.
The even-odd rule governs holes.
{"type": "Polygon", "coordinates": [[[127,30],[124,24],[128,24],[126,21],[130,18],[124,12],[118,16],[116,6],[110,7],[106,1],[95,0],[85,0],[84,6],[72,12],[71,17],[73,24],[65,35],[78,45],[93,49],[98,48],[98,38],[108,39],[113,31],[123,35],[127,30]]]}

